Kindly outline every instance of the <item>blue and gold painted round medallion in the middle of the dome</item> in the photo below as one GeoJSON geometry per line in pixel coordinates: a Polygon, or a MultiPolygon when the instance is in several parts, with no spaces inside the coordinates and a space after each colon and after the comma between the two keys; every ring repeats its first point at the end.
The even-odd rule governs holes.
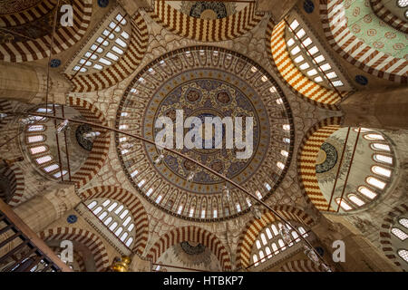
{"type": "MultiPolygon", "coordinates": [[[[176,124],[177,111],[182,112],[183,121],[195,117],[201,123],[198,128],[191,126],[183,129],[183,137],[189,131],[197,129],[201,146],[196,145],[189,150],[184,144],[183,149],[179,150],[181,153],[238,182],[244,182],[256,172],[267,152],[268,119],[266,108],[257,92],[247,82],[218,70],[196,69],[180,73],[161,85],[149,102],[143,118],[144,137],[157,136],[162,130],[154,126],[160,117],[168,117],[176,124]],[[206,121],[217,117],[221,121],[230,118],[233,121],[233,132],[229,130],[230,127],[223,125],[220,131],[213,127],[212,135],[206,135],[206,121]],[[227,139],[231,136],[228,135],[228,130],[234,134],[237,130],[236,121],[241,121],[242,139],[245,141],[248,117],[252,118],[253,123],[252,142],[247,140],[252,154],[248,159],[240,159],[238,151],[245,149],[238,149],[235,143],[232,149],[228,148],[227,139]]],[[[175,140],[173,145],[176,148],[175,140]]],[[[145,149],[153,163],[159,152],[150,144],[145,144],[145,149]]],[[[219,191],[224,183],[224,180],[210,174],[206,169],[173,154],[167,154],[157,169],[165,179],[189,190],[190,184],[185,180],[189,172],[193,171],[192,181],[197,184],[193,191],[199,193],[219,191]]]]}

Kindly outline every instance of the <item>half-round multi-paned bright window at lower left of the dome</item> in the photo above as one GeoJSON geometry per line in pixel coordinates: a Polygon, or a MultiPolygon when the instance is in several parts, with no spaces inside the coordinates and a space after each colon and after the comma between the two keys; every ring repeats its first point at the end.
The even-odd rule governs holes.
{"type": "Polygon", "coordinates": [[[134,223],[126,206],[111,199],[93,199],[87,201],[87,208],[105,225],[114,236],[121,239],[126,247],[131,247],[134,241],[134,223]],[[129,226],[129,224],[131,224],[129,226]]]}

